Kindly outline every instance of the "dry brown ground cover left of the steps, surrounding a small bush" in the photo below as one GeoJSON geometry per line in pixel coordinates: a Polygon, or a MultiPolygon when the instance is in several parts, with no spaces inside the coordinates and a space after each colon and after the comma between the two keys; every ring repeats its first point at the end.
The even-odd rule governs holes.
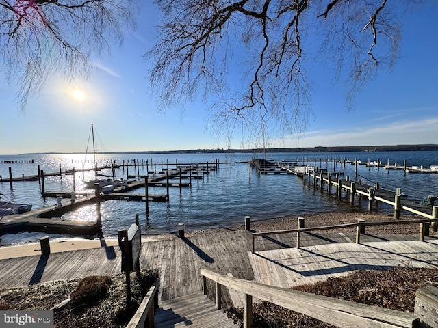
{"type": "Polygon", "coordinates": [[[0,310],[54,310],[54,327],[125,327],[157,274],[131,275],[131,302],[125,275],[58,280],[2,290],[0,310]],[[65,303],[64,303],[65,302],[65,303]]]}

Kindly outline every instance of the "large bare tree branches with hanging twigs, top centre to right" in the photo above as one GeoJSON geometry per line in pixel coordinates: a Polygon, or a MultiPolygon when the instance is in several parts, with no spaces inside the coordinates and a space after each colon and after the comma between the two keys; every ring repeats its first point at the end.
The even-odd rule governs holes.
{"type": "Polygon", "coordinates": [[[204,90],[210,125],[225,134],[242,122],[257,140],[299,134],[311,115],[305,68],[334,67],[352,99],[377,68],[394,64],[400,25],[392,13],[409,2],[156,0],[164,23],[147,53],[150,81],[163,107],[204,90]]]}

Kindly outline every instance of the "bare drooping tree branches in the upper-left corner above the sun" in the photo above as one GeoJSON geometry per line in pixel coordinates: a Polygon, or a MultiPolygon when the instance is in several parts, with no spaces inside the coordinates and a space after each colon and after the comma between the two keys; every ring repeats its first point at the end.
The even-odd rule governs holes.
{"type": "Polygon", "coordinates": [[[38,94],[47,74],[88,77],[90,56],[110,51],[133,31],[138,1],[0,0],[0,64],[18,77],[21,109],[38,94]]]}

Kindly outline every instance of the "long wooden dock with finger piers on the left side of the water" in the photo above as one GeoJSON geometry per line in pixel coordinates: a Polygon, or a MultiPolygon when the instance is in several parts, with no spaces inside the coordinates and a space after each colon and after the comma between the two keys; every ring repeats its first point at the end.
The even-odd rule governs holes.
{"type": "MultiPolygon", "coordinates": [[[[67,201],[60,202],[55,206],[48,206],[38,210],[31,210],[27,213],[19,215],[8,215],[0,219],[0,234],[16,233],[20,231],[42,231],[55,234],[75,234],[75,235],[93,235],[101,234],[101,222],[99,222],[99,213],[96,215],[96,222],[90,221],[73,221],[62,220],[62,215],[77,210],[82,206],[104,202],[105,200],[120,200],[120,201],[139,201],[146,202],[146,212],[148,210],[147,202],[166,202],[169,199],[169,187],[191,186],[190,182],[183,182],[183,176],[202,176],[216,170],[216,165],[181,165],[169,171],[164,171],[162,174],[153,174],[144,176],[142,180],[125,181],[121,187],[115,187],[114,192],[102,193],[96,192],[81,192],[72,193],[71,191],[42,191],[42,197],[62,197],[67,201]],[[201,167],[201,169],[199,169],[201,167]],[[207,169],[208,168],[208,169],[207,169]],[[192,174],[193,173],[193,174],[192,174]],[[171,182],[170,180],[179,179],[179,182],[171,182]],[[166,187],[167,193],[152,194],[149,193],[149,187],[166,187]],[[136,189],[144,188],[145,192],[128,193],[136,189]],[[79,197],[77,197],[79,196],[79,197]],[[73,197],[73,198],[72,198],[73,197]]],[[[45,175],[45,174],[44,174],[45,175]]],[[[98,206],[99,207],[99,206],[98,206]]],[[[98,209],[99,211],[99,209],[98,209]]]]}

